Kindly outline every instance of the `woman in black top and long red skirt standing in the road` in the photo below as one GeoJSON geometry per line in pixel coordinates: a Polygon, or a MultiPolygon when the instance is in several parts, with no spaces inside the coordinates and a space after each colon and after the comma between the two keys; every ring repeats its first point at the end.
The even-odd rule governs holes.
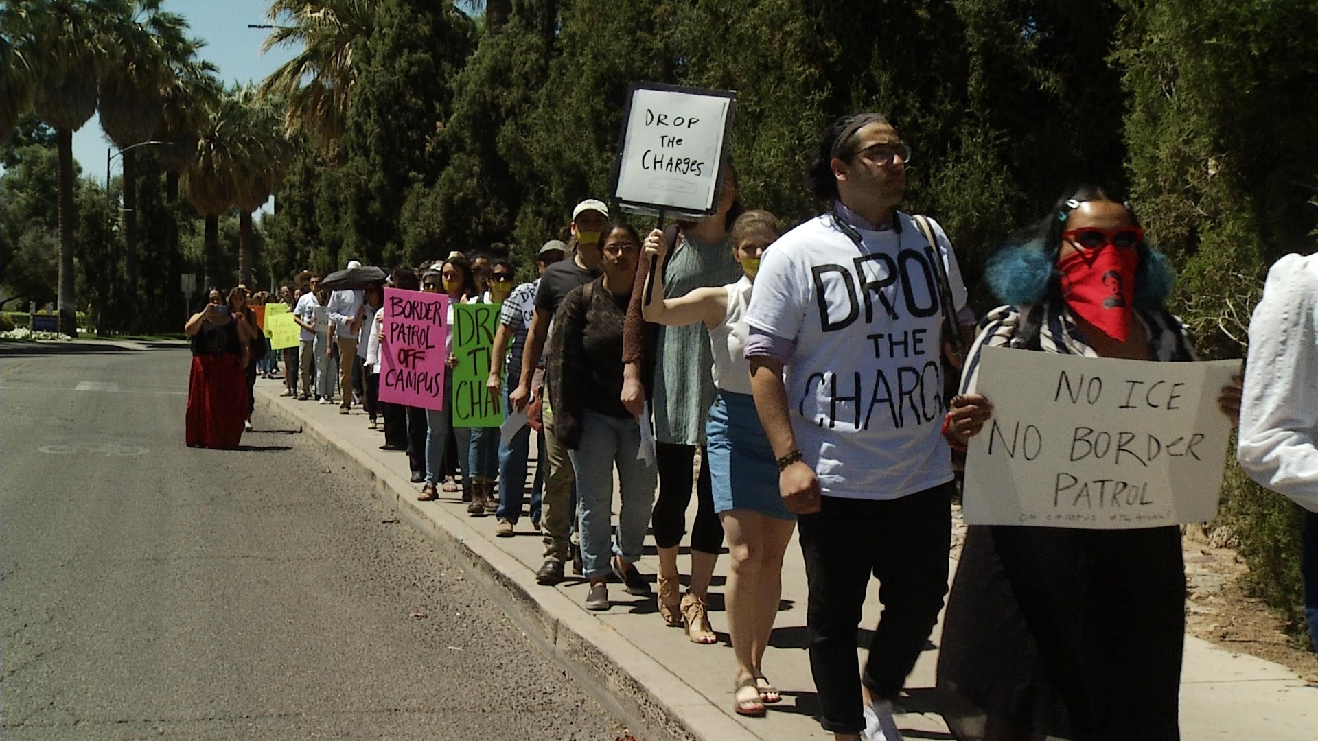
{"type": "Polygon", "coordinates": [[[232,448],[243,438],[248,413],[245,368],[250,360],[246,330],[235,322],[219,289],[183,326],[191,338],[192,372],[187,385],[188,447],[232,448]]]}

